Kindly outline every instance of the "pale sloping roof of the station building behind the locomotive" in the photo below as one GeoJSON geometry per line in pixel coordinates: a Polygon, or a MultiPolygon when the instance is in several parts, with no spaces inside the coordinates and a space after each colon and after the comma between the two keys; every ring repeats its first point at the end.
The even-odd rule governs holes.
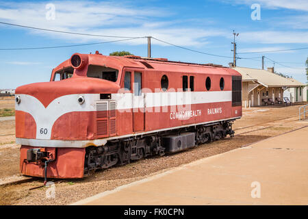
{"type": "Polygon", "coordinates": [[[238,71],[242,75],[242,81],[254,81],[261,83],[263,86],[287,86],[287,87],[298,87],[306,86],[296,79],[285,78],[274,73],[270,73],[268,70],[256,69],[256,68],[244,68],[235,67],[234,70],[238,71]]]}

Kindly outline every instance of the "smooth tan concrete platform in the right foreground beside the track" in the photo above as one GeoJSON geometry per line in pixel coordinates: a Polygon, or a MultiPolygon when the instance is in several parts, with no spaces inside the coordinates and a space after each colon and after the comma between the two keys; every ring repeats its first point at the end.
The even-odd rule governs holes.
{"type": "Polygon", "coordinates": [[[307,205],[308,127],[73,205],[307,205]]]}

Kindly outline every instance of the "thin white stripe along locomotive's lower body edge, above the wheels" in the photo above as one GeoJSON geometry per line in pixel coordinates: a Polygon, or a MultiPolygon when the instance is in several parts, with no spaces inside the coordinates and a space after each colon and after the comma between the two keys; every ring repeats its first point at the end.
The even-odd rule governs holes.
{"type": "Polygon", "coordinates": [[[84,148],[89,145],[94,145],[94,146],[101,146],[107,143],[107,140],[114,140],[118,138],[127,138],[127,137],[132,137],[132,136],[142,136],[145,134],[149,133],[155,133],[159,131],[168,131],[172,129],[179,129],[183,127],[190,127],[194,125],[204,125],[204,124],[209,124],[209,123],[217,123],[220,121],[224,120],[233,120],[241,118],[240,116],[238,117],[233,117],[233,118],[227,118],[227,119],[222,119],[222,120],[215,120],[215,121],[210,121],[210,122],[205,122],[205,123],[196,123],[196,124],[190,124],[190,125],[182,125],[178,127],[172,127],[172,128],[166,128],[166,129],[157,129],[153,131],[144,131],[140,133],[133,133],[125,136],[115,136],[115,137],[110,137],[110,138],[103,138],[103,139],[97,139],[97,140],[40,140],[40,139],[28,139],[28,138],[16,138],[16,144],[22,144],[22,145],[29,145],[29,146],[46,146],[46,147],[59,147],[59,148],[84,148]]]}

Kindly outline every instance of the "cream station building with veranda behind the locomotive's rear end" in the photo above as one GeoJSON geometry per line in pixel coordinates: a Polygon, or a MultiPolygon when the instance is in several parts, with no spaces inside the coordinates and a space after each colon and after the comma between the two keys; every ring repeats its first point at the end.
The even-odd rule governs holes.
{"type": "MultiPolygon", "coordinates": [[[[281,77],[274,73],[274,68],[268,70],[256,68],[234,67],[242,75],[242,106],[270,105],[283,101],[283,92],[290,88],[301,89],[305,84],[295,79],[281,77]]],[[[292,99],[290,99],[292,101],[292,99]]],[[[296,99],[295,99],[296,101],[296,99]]],[[[304,101],[302,99],[301,101],[304,101]]]]}

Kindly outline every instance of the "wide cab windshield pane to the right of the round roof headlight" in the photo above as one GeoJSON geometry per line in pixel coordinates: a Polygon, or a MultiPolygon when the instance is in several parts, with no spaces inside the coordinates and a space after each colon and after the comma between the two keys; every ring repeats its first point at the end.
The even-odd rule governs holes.
{"type": "Polygon", "coordinates": [[[118,70],[105,66],[90,65],[88,67],[87,76],[116,82],[118,79],[118,70]]]}

